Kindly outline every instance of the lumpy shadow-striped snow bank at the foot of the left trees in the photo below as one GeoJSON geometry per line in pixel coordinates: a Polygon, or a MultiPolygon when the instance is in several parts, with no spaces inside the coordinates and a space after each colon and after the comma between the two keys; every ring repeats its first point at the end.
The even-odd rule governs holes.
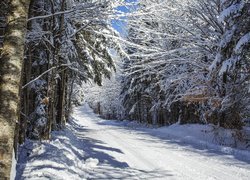
{"type": "Polygon", "coordinates": [[[80,145],[75,145],[77,137],[69,129],[54,132],[52,137],[51,141],[27,140],[20,147],[16,180],[82,180],[88,177],[87,168],[98,166],[95,159],[85,157],[80,145]]]}

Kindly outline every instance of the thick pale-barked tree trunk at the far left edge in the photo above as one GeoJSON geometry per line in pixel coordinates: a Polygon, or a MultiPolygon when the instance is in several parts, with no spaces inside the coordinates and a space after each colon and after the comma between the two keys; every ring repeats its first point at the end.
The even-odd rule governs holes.
{"type": "Polygon", "coordinates": [[[29,0],[10,0],[0,66],[0,179],[10,179],[29,0]]]}

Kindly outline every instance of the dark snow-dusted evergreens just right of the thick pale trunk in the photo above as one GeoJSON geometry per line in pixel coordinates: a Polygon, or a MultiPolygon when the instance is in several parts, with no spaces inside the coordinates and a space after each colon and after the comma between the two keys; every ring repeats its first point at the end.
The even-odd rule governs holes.
{"type": "Polygon", "coordinates": [[[115,68],[109,49],[122,52],[110,18],[121,4],[32,1],[21,110],[30,137],[47,139],[51,129],[64,126],[74,86],[89,79],[101,85],[103,77],[110,77],[115,68]]]}

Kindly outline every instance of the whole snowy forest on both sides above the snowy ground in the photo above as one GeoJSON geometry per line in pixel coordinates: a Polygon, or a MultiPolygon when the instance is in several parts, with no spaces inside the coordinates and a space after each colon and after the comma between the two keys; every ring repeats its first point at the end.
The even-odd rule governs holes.
{"type": "Polygon", "coordinates": [[[0,1],[0,179],[83,102],[103,119],[230,129],[249,148],[249,17],[249,0],[0,1]]]}

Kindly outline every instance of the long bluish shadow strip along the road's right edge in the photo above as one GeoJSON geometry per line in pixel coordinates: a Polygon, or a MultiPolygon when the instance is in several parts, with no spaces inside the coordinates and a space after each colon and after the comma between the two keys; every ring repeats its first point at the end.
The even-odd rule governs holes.
{"type": "MultiPolygon", "coordinates": [[[[226,146],[214,145],[209,142],[196,142],[194,140],[189,140],[189,137],[179,138],[178,136],[167,135],[157,131],[157,128],[145,128],[145,127],[130,127],[127,123],[117,120],[101,120],[98,122],[99,125],[108,126],[110,129],[123,129],[130,133],[135,134],[137,139],[144,142],[150,142],[152,146],[159,144],[159,142],[166,145],[168,148],[172,148],[175,151],[189,151],[193,153],[199,153],[207,157],[220,157],[226,159],[229,165],[245,166],[250,164],[250,153],[247,151],[242,151],[226,146]],[[110,122],[112,121],[112,122],[110,122]],[[149,136],[148,136],[149,135],[149,136]],[[232,161],[233,159],[238,160],[238,163],[232,161]],[[231,161],[230,161],[231,160],[231,161]],[[231,162],[231,163],[230,163],[231,162]]],[[[108,129],[106,128],[106,130],[108,129]]],[[[159,148],[166,148],[166,146],[161,146],[159,148]]]]}

